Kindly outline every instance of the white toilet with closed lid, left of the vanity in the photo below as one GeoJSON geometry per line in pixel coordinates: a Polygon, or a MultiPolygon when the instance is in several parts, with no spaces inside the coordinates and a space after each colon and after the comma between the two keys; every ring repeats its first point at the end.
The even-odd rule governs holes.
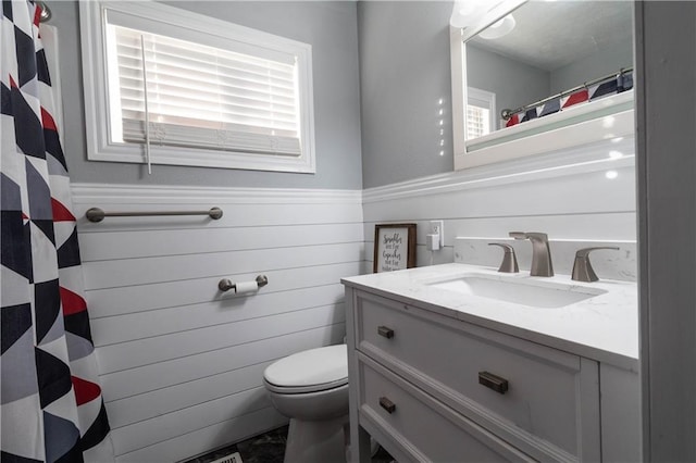
{"type": "Polygon", "coordinates": [[[281,359],[265,368],[263,383],[275,409],[290,418],[285,463],[346,461],[346,345],[281,359]]]}

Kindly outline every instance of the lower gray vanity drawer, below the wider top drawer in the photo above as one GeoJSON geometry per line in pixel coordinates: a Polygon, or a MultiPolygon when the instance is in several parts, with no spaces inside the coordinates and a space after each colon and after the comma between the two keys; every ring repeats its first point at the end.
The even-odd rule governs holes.
{"type": "Polygon", "coordinates": [[[398,442],[399,461],[534,461],[371,359],[359,368],[361,421],[398,442]]]}

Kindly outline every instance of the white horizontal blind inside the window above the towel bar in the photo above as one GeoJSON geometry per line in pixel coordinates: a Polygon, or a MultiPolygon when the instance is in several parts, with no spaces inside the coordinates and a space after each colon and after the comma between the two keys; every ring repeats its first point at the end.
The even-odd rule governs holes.
{"type": "Polygon", "coordinates": [[[145,141],[147,91],[153,145],[301,154],[295,57],[269,59],[107,27],[107,47],[116,58],[108,60],[115,141],[145,141]]]}

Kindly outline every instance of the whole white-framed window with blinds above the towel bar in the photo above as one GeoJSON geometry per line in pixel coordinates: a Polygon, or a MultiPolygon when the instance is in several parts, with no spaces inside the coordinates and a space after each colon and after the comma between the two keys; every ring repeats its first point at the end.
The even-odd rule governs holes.
{"type": "Polygon", "coordinates": [[[311,47],[156,2],[80,2],[88,158],[314,172],[311,47]]]}

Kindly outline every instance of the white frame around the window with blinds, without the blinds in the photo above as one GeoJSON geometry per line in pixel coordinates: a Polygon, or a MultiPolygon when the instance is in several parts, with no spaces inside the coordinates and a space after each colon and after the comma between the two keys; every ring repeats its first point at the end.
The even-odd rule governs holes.
{"type": "Polygon", "coordinates": [[[152,164],[192,165],[254,171],[315,173],[314,103],[311,45],[239,26],[153,1],[80,1],[79,23],[83,49],[87,159],[139,163],[147,162],[145,145],[114,142],[110,135],[109,87],[105,57],[105,13],[111,10],[177,27],[187,38],[217,48],[250,43],[297,57],[300,109],[299,157],[245,153],[210,149],[150,146],[152,164]]]}

